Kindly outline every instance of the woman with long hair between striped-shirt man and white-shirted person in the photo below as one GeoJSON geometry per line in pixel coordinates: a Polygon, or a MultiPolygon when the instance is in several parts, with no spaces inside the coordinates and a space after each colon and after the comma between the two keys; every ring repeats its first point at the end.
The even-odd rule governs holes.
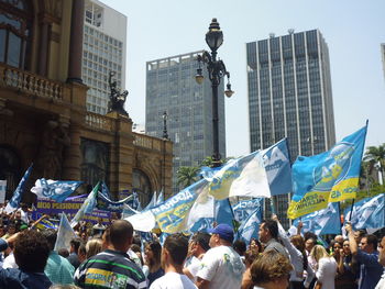
{"type": "Polygon", "coordinates": [[[160,242],[152,241],[146,243],[144,253],[146,267],[143,268],[143,271],[148,279],[150,287],[153,281],[164,275],[164,269],[161,266],[162,246],[160,242]]]}

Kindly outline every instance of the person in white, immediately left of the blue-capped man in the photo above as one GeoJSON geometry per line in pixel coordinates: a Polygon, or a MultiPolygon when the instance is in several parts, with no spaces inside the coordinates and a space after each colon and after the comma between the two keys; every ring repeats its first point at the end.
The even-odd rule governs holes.
{"type": "Polygon", "coordinates": [[[207,251],[210,249],[210,235],[204,232],[197,232],[191,236],[188,245],[188,257],[186,260],[184,274],[194,282],[197,280],[197,273],[200,268],[200,262],[207,251]]]}

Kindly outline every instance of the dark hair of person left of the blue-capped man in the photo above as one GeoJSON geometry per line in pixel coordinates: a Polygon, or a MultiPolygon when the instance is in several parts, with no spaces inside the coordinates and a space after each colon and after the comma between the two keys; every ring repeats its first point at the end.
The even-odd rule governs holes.
{"type": "Polygon", "coordinates": [[[186,236],[180,233],[169,235],[166,237],[163,247],[168,251],[175,265],[182,266],[184,264],[188,252],[188,241],[186,236]]]}

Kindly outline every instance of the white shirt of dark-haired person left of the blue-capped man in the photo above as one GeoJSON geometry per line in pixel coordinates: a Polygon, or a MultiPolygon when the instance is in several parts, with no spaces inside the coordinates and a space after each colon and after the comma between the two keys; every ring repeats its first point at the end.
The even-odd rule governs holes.
{"type": "Polygon", "coordinates": [[[186,275],[174,271],[166,273],[161,278],[157,278],[150,286],[150,289],[197,289],[198,287],[188,279],[186,275]]]}

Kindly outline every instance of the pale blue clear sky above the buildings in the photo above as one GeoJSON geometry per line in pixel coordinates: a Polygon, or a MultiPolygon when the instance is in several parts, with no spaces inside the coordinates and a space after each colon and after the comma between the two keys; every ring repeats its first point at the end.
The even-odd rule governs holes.
{"type": "MultiPolygon", "coordinates": [[[[145,123],[145,63],[209,49],[212,18],[224,34],[218,55],[235,91],[226,100],[227,155],[250,153],[245,43],[319,29],[329,46],[337,141],[369,119],[366,146],[385,143],[384,0],[101,0],[128,16],[127,110],[145,123]]],[[[162,121],[162,120],[160,120],[162,121]]]]}

